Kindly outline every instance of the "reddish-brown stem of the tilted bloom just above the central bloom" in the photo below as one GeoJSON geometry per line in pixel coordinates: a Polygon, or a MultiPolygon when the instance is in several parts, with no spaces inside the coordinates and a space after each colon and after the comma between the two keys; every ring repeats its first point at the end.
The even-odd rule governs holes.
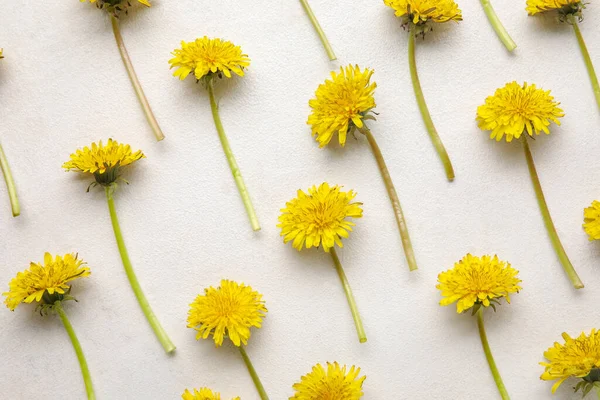
{"type": "Polygon", "coordinates": [[[400,206],[400,199],[398,198],[398,193],[396,193],[396,188],[394,187],[394,183],[392,182],[392,177],[390,176],[390,172],[387,169],[387,165],[385,164],[385,160],[383,159],[383,154],[381,154],[381,150],[375,141],[375,137],[371,133],[369,129],[362,129],[361,133],[367,137],[369,144],[371,145],[371,150],[373,151],[373,156],[375,156],[375,160],[377,160],[377,165],[379,166],[379,171],[381,172],[381,177],[383,178],[383,182],[385,183],[385,188],[387,189],[388,196],[390,197],[390,201],[392,202],[392,208],[394,209],[394,215],[396,216],[396,223],[398,224],[398,229],[400,230],[400,238],[402,239],[402,247],[404,248],[404,255],[406,256],[406,261],[408,262],[408,268],[411,271],[415,271],[417,267],[417,260],[415,260],[415,252],[412,247],[412,243],[410,242],[410,236],[408,235],[408,227],[406,226],[406,220],[404,219],[404,214],[402,213],[402,207],[400,206]]]}

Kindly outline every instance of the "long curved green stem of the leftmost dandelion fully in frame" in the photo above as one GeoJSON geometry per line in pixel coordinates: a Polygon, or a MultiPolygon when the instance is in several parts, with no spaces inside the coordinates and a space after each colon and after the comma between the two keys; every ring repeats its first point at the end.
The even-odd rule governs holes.
{"type": "Polygon", "coordinates": [[[133,289],[133,293],[135,293],[135,297],[146,316],[146,319],[150,323],[154,334],[159,340],[160,344],[163,346],[167,353],[171,353],[175,350],[175,345],[169,339],[169,336],[163,329],[162,325],[158,321],[158,318],[152,311],[150,307],[150,303],[148,303],[148,299],[144,295],[142,291],[142,287],[137,280],[137,276],[133,271],[133,266],[131,265],[131,261],[129,260],[129,254],[127,254],[127,248],[125,247],[125,241],[123,240],[123,234],[121,233],[121,227],[119,225],[119,219],[117,217],[117,211],[115,209],[115,200],[113,198],[112,193],[113,188],[110,186],[106,187],[106,199],[108,200],[108,210],[110,211],[110,220],[113,225],[113,230],[115,232],[115,239],[117,240],[117,246],[119,247],[119,253],[121,253],[121,260],[123,260],[123,267],[125,268],[125,273],[127,274],[127,279],[129,279],[129,284],[133,289]]]}

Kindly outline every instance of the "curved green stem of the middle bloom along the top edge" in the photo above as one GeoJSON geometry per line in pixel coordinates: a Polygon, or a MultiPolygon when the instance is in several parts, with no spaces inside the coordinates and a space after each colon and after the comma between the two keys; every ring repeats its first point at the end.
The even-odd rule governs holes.
{"type": "Polygon", "coordinates": [[[433,125],[433,120],[431,119],[431,114],[429,114],[429,109],[427,108],[427,103],[425,103],[425,97],[423,96],[423,90],[421,89],[421,82],[419,81],[419,75],[417,73],[417,62],[415,60],[416,35],[416,29],[414,28],[410,30],[408,35],[408,63],[410,66],[410,76],[412,78],[415,97],[417,98],[419,110],[421,111],[421,117],[423,118],[423,122],[425,123],[425,127],[427,128],[429,137],[431,138],[435,150],[437,151],[440,159],[442,160],[442,163],[444,164],[446,177],[449,181],[453,181],[454,168],[452,168],[450,157],[448,156],[448,152],[446,151],[446,148],[442,143],[442,139],[440,139],[440,135],[438,135],[437,130],[435,129],[435,125],[433,125]]]}

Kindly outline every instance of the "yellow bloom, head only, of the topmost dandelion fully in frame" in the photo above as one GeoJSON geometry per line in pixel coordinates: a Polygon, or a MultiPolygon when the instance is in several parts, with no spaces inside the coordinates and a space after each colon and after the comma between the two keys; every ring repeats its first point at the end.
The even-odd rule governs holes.
{"type": "Polygon", "coordinates": [[[177,68],[173,75],[181,80],[192,72],[197,80],[213,75],[231,78],[232,72],[244,76],[244,68],[250,65],[248,55],[242,53],[240,46],[206,36],[193,42],[182,41],[181,49],[175,49],[173,55],[169,64],[177,68]]]}

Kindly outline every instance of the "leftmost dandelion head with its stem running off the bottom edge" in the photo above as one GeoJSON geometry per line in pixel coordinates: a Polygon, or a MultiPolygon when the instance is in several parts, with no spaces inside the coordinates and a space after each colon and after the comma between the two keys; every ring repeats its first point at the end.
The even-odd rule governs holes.
{"type": "MultiPolygon", "coordinates": [[[[8,292],[3,295],[6,297],[4,303],[11,311],[14,311],[22,303],[36,302],[41,315],[51,312],[58,314],[77,354],[87,398],[93,400],[95,394],[87,361],[79,339],[63,308],[64,302],[75,300],[70,294],[71,284],[79,278],[88,276],[90,276],[89,267],[77,255],[53,256],[46,253],[43,262],[32,262],[29,269],[17,273],[17,276],[8,285],[8,292]]],[[[73,396],[67,395],[66,397],[73,396]]]]}

